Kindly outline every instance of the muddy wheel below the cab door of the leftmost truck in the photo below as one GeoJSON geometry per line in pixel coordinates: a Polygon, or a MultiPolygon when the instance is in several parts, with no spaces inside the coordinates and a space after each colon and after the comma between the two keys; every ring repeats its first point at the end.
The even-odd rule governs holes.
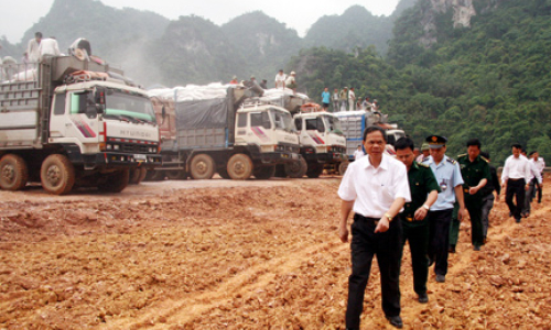
{"type": "Polygon", "coordinates": [[[47,193],[65,195],[75,185],[75,167],[64,155],[50,155],[42,162],[40,179],[47,193]]]}

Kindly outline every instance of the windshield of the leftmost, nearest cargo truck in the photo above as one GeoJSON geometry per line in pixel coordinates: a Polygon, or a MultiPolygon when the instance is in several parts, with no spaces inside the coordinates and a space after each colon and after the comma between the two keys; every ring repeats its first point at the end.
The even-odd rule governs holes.
{"type": "Polygon", "coordinates": [[[153,105],[149,98],[118,90],[107,94],[105,114],[126,120],[156,122],[153,105]]]}

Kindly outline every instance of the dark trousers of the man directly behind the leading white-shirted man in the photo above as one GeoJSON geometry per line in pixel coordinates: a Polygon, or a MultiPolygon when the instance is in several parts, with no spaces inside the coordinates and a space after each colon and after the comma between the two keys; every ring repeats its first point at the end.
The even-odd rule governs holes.
{"type": "MultiPolygon", "coordinates": [[[[413,290],[418,295],[426,294],[426,278],[429,277],[429,226],[410,227],[403,224],[403,239],[410,244],[411,266],[413,270],[413,290]]],[[[403,252],[403,250],[402,250],[403,252]]]]}

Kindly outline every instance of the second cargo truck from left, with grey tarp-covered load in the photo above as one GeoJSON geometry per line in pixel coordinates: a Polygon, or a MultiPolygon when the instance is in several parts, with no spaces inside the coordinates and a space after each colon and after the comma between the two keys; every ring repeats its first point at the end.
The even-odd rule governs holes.
{"type": "Polygon", "coordinates": [[[276,165],[299,160],[299,138],[288,110],[251,101],[250,90],[241,86],[184,100],[179,98],[182,91],[150,95],[158,118],[161,109],[168,111],[161,121],[163,165],[147,178],[209,179],[218,173],[223,178],[267,179],[276,165]]]}

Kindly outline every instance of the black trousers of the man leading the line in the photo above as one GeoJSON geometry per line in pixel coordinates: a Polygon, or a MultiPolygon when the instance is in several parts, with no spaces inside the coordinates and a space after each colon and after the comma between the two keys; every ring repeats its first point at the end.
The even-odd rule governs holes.
{"type": "Polygon", "coordinates": [[[396,217],[390,222],[388,231],[375,233],[377,220],[379,219],[354,216],[350,243],[352,274],[348,277],[346,308],[346,328],[349,329],[359,329],[364,296],[376,254],[380,271],[382,310],[388,317],[400,315],[402,227],[400,218],[396,217]]]}

